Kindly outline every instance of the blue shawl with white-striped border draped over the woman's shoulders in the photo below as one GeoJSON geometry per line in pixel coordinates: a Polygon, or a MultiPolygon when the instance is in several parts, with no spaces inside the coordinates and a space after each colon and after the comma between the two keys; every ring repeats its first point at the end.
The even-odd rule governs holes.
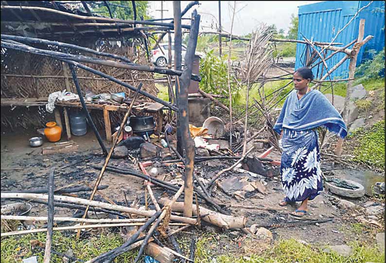
{"type": "Polygon", "coordinates": [[[298,99],[297,91],[293,90],[285,100],[273,129],[280,134],[282,128],[304,131],[322,125],[342,138],[347,135],[342,116],[320,91],[311,90],[298,99]]]}

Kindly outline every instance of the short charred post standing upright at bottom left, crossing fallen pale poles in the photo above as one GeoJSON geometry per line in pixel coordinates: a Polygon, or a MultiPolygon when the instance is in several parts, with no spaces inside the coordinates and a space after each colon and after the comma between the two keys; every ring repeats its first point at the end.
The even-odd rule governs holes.
{"type": "Polygon", "coordinates": [[[53,183],[53,174],[55,168],[51,168],[48,176],[48,219],[47,219],[47,241],[46,249],[44,251],[43,263],[49,263],[51,259],[51,244],[53,240],[53,190],[55,188],[53,183]]]}

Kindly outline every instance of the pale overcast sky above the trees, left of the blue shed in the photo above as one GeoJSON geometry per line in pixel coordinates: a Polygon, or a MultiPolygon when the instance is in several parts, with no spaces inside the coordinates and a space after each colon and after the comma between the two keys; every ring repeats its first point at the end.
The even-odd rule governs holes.
{"type": "MultiPolygon", "coordinates": [[[[181,1],[181,11],[190,1],[181,1]]],[[[233,34],[245,35],[261,23],[275,24],[277,29],[287,33],[291,14],[298,14],[298,6],[320,1],[236,1],[233,34]]],[[[191,17],[194,8],[201,15],[200,32],[216,31],[218,23],[218,1],[200,1],[184,17],[191,17]]],[[[234,1],[221,1],[221,24],[225,32],[230,32],[234,1]]],[[[161,1],[149,1],[149,14],[160,18],[161,1]]],[[[173,1],[163,1],[163,17],[173,17],[173,1]],[[166,11],[167,10],[167,11],[166,11]]],[[[189,20],[182,20],[188,23],[189,20]]]]}

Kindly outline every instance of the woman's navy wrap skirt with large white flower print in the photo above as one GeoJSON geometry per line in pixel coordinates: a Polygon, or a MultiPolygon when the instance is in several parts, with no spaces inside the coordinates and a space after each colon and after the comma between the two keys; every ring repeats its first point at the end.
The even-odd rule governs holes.
{"type": "Polygon", "coordinates": [[[317,132],[283,129],[281,184],[286,202],[314,199],[323,191],[317,132]]]}

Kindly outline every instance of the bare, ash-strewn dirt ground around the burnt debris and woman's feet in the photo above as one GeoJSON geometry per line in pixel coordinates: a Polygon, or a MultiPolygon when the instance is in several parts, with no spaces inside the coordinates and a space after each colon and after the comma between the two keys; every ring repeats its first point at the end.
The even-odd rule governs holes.
{"type": "MultiPolygon", "coordinates": [[[[52,165],[55,166],[55,188],[80,181],[87,181],[91,185],[95,183],[99,170],[92,168],[92,165],[102,165],[104,158],[92,155],[93,152],[100,152],[98,142],[92,131],[88,131],[86,135],[81,137],[73,137],[73,141],[79,144],[79,150],[77,152],[55,155],[41,155],[41,147],[29,147],[28,139],[35,135],[34,131],[1,135],[1,191],[15,191],[46,186],[48,170],[52,165]],[[85,161],[71,165],[80,160],[85,161]]],[[[62,139],[61,141],[65,140],[62,139]]],[[[45,141],[43,147],[50,145],[51,143],[45,141]]],[[[167,152],[166,149],[164,149],[164,151],[167,152]]],[[[277,152],[273,152],[269,157],[279,159],[280,155],[277,152]]],[[[131,167],[139,170],[138,166],[135,166],[127,159],[112,159],[109,164],[126,168],[131,167]]],[[[198,176],[210,180],[216,172],[231,164],[232,161],[206,161],[196,164],[195,171],[198,176]]],[[[324,164],[322,169],[323,167],[326,168],[328,166],[329,164],[324,164]]],[[[152,167],[148,167],[147,170],[149,171],[151,168],[152,167]]],[[[172,181],[173,183],[182,182],[183,170],[181,168],[171,166],[159,169],[161,169],[158,175],[160,179],[172,181]]],[[[235,176],[235,173],[226,173],[227,178],[231,176],[235,176]]],[[[348,211],[345,209],[338,209],[335,205],[338,198],[324,191],[320,196],[309,203],[309,214],[302,217],[300,220],[289,214],[295,210],[295,207],[288,206],[282,208],[277,205],[283,197],[280,177],[265,178],[264,181],[267,183],[266,195],[257,193],[251,197],[246,197],[245,200],[237,200],[234,197],[228,196],[219,188],[213,187],[212,197],[219,202],[230,205],[237,204],[246,207],[269,206],[275,208],[276,211],[273,212],[230,208],[232,214],[244,215],[248,218],[248,227],[252,224],[266,226],[267,228],[279,226],[277,228],[271,228],[275,240],[281,238],[296,238],[313,244],[340,245],[352,241],[353,239],[357,239],[357,236],[352,235],[352,232],[350,231],[351,224],[356,223],[356,221],[353,220],[353,218],[348,217],[348,214],[358,214],[362,213],[361,211],[355,212],[353,210],[348,211]],[[291,225],[292,223],[298,224],[299,222],[312,222],[313,220],[322,219],[332,220],[320,224],[311,223],[310,225],[305,226],[291,225]],[[287,227],[280,227],[281,225],[288,224],[289,226],[287,227]]],[[[108,185],[108,188],[101,190],[101,193],[114,200],[117,204],[124,205],[125,200],[123,192],[125,192],[129,204],[136,198],[140,200],[140,205],[145,204],[145,187],[142,179],[106,171],[100,185],[108,185]]],[[[154,192],[156,197],[165,194],[169,197],[172,195],[172,193],[165,193],[163,189],[157,187],[154,187],[154,192]]],[[[76,194],[78,197],[89,198],[90,193],[81,192],[76,194]]],[[[105,202],[103,197],[99,195],[96,195],[94,199],[105,202]]],[[[368,200],[370,200],[369,197],[361,197],[350,201],[360,207],[368,200]]],[[[10,199],[1,200],[1,205],[14,201],[15,200],[10,199]]],[[[32,205],[33,210],[30,215],[46,215],[45,205],[37,203],[32,203],[32,205]]],[[[151,205],[149,207],[152,208],[151,205]]],[[[71,216],[73,213],[74,210],[67,208],[55,208],[55,215],[71,216]]],[[[212,231],[220,235],[225,235],[226,237],[224,237],[222,242],[228,244],[227,246],[234,247],[234,249],[237,248],[239,240],[243,239],[245,236],[243,232],[235,232],[234,230],[223,231],[209,225],[204,227],[203,230],[197,231],[198,234],[212,231]],[[234,238],[234,235],[236,235],[237,238],[234,238]]],[[[374,237],[372,235],[364,235],[363,238],[372,240],[374,237]]]]}

